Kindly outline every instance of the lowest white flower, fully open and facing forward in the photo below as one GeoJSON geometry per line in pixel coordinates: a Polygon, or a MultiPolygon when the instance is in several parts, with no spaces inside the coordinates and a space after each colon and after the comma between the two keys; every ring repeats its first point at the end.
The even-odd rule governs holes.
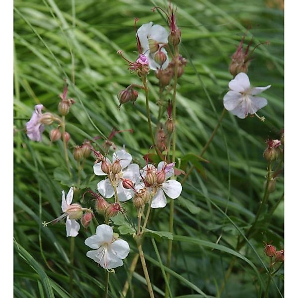
{"type": "Polygon", "coordinates": [[[96,234],[87,238],[85,244],[96,250],[89,250],[86,256],[104,269],[112,269],[123,265],[123,259],[129,254],[129,245],[125,240],[115,240],[113,229],[107,224],[100,224],[96,234]]]}

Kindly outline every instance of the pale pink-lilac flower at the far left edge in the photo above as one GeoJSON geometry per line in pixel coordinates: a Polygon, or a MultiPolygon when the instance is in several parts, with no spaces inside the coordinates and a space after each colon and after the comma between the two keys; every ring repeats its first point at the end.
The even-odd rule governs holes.
{"type": "Polygon", "coordinates": [[[41,134],[45,130],[44,125],[40,122],[42,109],[43,105],[37,104],[35,106],[35,111],[33,112],[31,119],[26,123],[27,136],[32,141],[41,142],[42,140],[41,134]]]}

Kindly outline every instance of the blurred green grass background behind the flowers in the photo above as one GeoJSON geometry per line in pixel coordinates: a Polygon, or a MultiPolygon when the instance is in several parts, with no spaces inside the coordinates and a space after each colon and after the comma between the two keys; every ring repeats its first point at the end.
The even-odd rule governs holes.
{"type": "MultiPolygon", "coordinates": [[[[138,83],[116,54],[136,58],[134,18],[139,25],[153,21],[166,25],[151,12],[154,3],[167,7],[166,1],[146,0],[15,0],[14,11],[14,239],[15,297],[102,297],[104,270],[85,256],[84,239],[94,231],[81,227],[75,238],[74,289],[69,293],[70,239],[63,224],[42,227],[60,215],[61,190],[67,183],[57,177],[64,164],[62,142],[51,144],[46,128],[42,143],[28,140],[24,131],[33,107],[42,103],[57,112],[58,95],[64,78],[75,75],[75,88],[69,95],[76,104],[67,116],[67,131],[72,146],[85,138],[105,135],[113,127],[133,129],[114,137],[119,148],[125,144],[142,165],[151,141],[145,110],[145,96],[139,92],[136,105],[125,104],[117,110],[118,92],[130,83],[138,83]],[[56,175],[54,179],[54,171],[56,175]]],[[[230,56],[246,29],[246,44],[270,41],[255,50],[248,75],[255,86],[271,84],[266,91],[268,105],[260,111],[266,117],[240,120],[226,113],[223,127],[204,157],[207,178],[194,172],[175,201],[171,264],[173,297],[218,297],[224,273],[235,252],[236,238],[253,222],[264,192],[266,161],[262,157],[265,140],[280,137],[283,128],[283,3],[278,0],[177,0],[178,26],[182,31],[181,54],[187,58],[185,74],[178,80],[177,157],[187,152],[200,153],[209,139],[223,109],[223,95],[231,75],[230,56]],[[227,206],[227,216],[224,215],[227,206]],[[184,235],[185,237],[181,237],[184,235]],[[218,237],[220,246],[216,246],[218,237]],[[230,249],[230,250],[229,250],[230,249]],[[206,297],[206,296],[205,296],[206,297]]],[[[158,84],[151,72],[150,110],[153,123],[157,116],[158,84]]],[[[166,120],[166,118],[164,118],[166,120]]],[[[102,141],[98,141],[99,144],[102,141]]],[[[75,167],[74,159],[72,159],[75,167]]],[[[84,166],[80,195],[88,186],[95,189],[93,159],[84,166]],[[84,183],[85,181],[85,183],[84,183]]],[[[181,178],[178,178],[181,180],[181,178]]],[[[268,211],[262,217],[258,233],[240,251],[245,260],[236,259],[221,297],[259,296],[266,281],[269,260],[263,253],[263,241],[283,245],[283,203],[273,214],[270,210],[283,194],[283,178],[271,194],[268,211]],[[252,247],[254,249],[252,249],[252,247]],[[263,262],[263,263],[262,263],[263,262]],[[260,281],[261,280],[261,281],[260,281]]],[[[88,204],[88,203],[87,203],[88,204]]],[[[131,204],[126,204],[134,212],[131,204]]],[[[149,228],[168,229],[168,208],[152,212],[149,228]]],[[[125,266],[111,276],[110,297],[120,297],[136,247],[129,237],[131,253],[125,266]]],[[[163,263],[167,241],[156,242],[163,263]]],[[[156,297],[163,297],[164,280],[150,239],[144,242],[151,282],[156,297]]],[[[270,297],[282,297],[283,275],[271,284],[270,297]],[[279,293],[279,291],[281,293],[279,293]]],[[[128,297],[147,297],[142,267],[132,280],[128,297]]]]}

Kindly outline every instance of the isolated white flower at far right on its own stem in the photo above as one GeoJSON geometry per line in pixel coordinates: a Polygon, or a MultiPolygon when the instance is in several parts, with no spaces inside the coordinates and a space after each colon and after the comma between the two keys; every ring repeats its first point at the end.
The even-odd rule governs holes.
{"type": "MultiPolygon", "coordinates": [[[[247,74],[240,73],[229,82],[228,86],[231,90],[224,95],[224,107],[241,119],[244,119],[248,114],[255,114],[260,118],[256,112],[267,105],[267,100],[264,97],[254,95],[267,90],[271,85],[252,88],[247,74]]],[[[260,119],[265,120],[264,117],[260,119]]]]}

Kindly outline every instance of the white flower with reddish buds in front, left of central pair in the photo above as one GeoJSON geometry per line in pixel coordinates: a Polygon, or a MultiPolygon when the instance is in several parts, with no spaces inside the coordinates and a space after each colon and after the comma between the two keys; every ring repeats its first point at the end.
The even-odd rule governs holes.
{"type": "MultiPolygon", "coordinates": [[[[119,201],[125,202],[127,200],[130,200],[134,196],[134,191],[132,189],[124,188],[120,178],[130,179],[135,182],[139,176],[139,165],[136,163],[130,164],[132,161],[132,155],[123,150],[113,153],[113,162],[116,160],[119,160],[122,170],[120,171],[120,173],[115,174],[112,179],[116,184],[119,201]]],[[[106,158],[106,161],[108,163],[111,163],[108,158],[106,158]]],[[[100,161],[93,166],[94,174],[97,176],[107,175],[101,170],[101,164],[102,162],[100,161]]],[[[98,192],[105,198],[111,198],[114,196],[114,188],[109,178],[101,180],[97,184],[97,189],[98,192]]]]}

